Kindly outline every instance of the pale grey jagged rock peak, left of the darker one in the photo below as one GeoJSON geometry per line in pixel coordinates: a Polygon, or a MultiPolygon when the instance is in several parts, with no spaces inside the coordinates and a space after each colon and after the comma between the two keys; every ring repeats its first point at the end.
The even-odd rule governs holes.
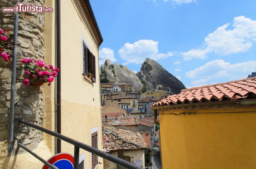
{"type": "Polygon", "coordinates": [[[105,73],[107,78],[114,77],[119,82],[125,81],[126,84],[132,84],[136,91],[139,91],[143,87],[138,76],[129,70],[126,65],[113,64],[111,60],[107,59],[101,66],[101,72],[105,73]]]}

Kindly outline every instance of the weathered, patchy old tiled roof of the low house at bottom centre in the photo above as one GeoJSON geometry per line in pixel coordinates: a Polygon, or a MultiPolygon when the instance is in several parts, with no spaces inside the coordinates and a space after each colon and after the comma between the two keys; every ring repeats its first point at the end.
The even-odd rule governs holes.
{"type": "Polygon", "coordinates": [[[103,151],[138,150],[147,148],[144,138],[138,132],[102,125],[103,151]]]}

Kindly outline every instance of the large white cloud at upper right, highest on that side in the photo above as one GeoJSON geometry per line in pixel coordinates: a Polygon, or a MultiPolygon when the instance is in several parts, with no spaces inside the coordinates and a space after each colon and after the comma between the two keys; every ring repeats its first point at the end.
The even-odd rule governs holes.
{"type": "Polygon", "coordinates": [[[203,59],[208,53],[229,55],[245,52],[252,47],[256,38],[256,21],[244,16],[235,17],[233,29],[228,29],[229,23],[219,27],[204,38],[204,44],[198,49],[182,53],[184,60],[203,59]]]}

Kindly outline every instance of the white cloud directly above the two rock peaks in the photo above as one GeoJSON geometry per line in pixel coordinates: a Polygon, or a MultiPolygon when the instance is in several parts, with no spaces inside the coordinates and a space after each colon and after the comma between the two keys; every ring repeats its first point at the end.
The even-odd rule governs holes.
{"type": "Polygon", "coordinates": [[[125,64],[140,64],[146,58],[158,60],[174,55],[171,52],[158,53],[158,42],[153,40],[139,40],[133,44],[126,43],[118,50],[118,54],[126,61],[125,64]]]}

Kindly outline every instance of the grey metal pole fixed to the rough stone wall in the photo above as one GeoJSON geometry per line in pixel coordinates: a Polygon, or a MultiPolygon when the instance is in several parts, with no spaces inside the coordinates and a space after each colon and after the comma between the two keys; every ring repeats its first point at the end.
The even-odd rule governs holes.
{"type": "Polygon", "coordinates": [[[12,77],[11,77],[11,103],[10,103],[10,122],[9,122],[9,145],[8,156],[11,157],[14,145],[14,103],[15,103],[15,86],[16,86],[16,67],[17,67],[17,44],[18,44],[18,13],[14,13],[14,39],[12,51],[12,77]]]}

